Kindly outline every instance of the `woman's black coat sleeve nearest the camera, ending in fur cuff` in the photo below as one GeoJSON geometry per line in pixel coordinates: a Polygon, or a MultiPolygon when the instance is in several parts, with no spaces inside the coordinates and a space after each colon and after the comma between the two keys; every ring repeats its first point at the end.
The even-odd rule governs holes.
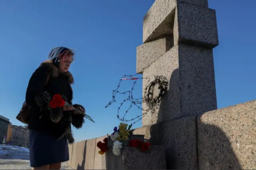
{"type": "Polygon", "coordinates": [[[42,108],[50,101],[50,95],[43,92],[47,76],[47,70],[40,67],[32,74],[26,91],[26,103],[28,103],[28,105],[38,105],[42,108]]]}

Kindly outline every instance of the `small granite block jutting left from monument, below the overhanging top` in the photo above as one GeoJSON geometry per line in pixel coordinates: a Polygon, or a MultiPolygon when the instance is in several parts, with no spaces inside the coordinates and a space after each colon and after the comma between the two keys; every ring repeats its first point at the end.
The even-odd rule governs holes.
{"type": "Polygon", "coordinates": [[[137,73],[143,73],[144,68],[156,61],[164,53],[173,47],[173,37],[160,38],[158,40],[144,43],[137,47],[137,73]]]}

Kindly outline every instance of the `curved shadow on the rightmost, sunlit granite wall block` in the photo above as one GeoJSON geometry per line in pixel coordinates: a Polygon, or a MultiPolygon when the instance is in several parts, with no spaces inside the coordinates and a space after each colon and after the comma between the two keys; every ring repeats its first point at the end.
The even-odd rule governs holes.
{"type": "Polygon", "coordinates": [[[199,169],[242,169],[225,132],[215,125],[202,123],[200,116],[197,125],[199,169]]]}

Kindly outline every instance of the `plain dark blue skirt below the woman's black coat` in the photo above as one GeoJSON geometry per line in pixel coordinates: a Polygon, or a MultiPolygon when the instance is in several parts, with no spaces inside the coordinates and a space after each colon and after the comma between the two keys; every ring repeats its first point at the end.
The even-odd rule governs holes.
{"type": "Polygon", "coordinates": [[[57,140],[54,136],[29,130],[30,166],[40,167],[69,160],[66,137],[57,140]]]}

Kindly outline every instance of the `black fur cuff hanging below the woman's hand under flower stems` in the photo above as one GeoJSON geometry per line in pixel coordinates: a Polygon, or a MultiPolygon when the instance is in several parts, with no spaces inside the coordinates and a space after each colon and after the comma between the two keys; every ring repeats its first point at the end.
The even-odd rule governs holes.
{"type": "Polygon", "coordinates": [[[72,113],[72,125],[75,128],[81,128],[83,126],[84,123],[84,113],[85,113],[85,109],[82,105],[78,105],[78,104],[74,104],[73,107],[74,109],[74,113],[72,113]],[[81,107],[82,109],[84,109],[84,112],[81,111],[80,109],[78,109],[78,107],[81,107]]]}

